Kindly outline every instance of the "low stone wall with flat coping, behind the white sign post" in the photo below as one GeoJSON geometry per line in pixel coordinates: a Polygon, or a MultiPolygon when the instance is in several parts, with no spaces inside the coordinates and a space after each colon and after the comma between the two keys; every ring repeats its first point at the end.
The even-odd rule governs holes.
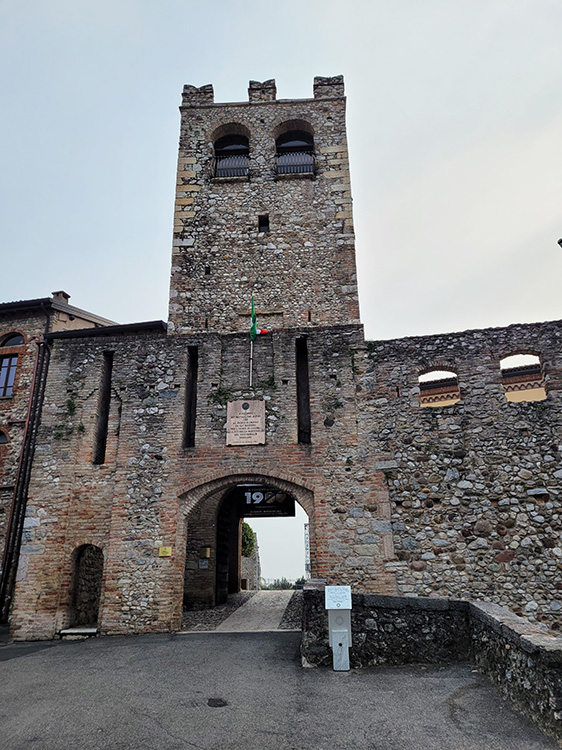
{"type": "MultiPolygon", "coordinates": [[[[562,637],[487,602],[353,594],[352,667],[472,661],[562,740],[562,637]]],[[[304,590],[303,666],[331,666],[322,588],[304,590]]]]}

